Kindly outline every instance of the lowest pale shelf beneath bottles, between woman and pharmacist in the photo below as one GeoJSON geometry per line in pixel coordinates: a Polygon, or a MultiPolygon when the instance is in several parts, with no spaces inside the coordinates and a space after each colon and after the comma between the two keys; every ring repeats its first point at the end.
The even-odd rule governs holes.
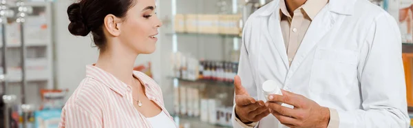
{"type": "Polygon", "coordinates": [[[178,116],[174,118],[180,127],[184,128],[226,128],[226,126],[212,125],[208,122],[202,122],[198,117],[178,116]]]}

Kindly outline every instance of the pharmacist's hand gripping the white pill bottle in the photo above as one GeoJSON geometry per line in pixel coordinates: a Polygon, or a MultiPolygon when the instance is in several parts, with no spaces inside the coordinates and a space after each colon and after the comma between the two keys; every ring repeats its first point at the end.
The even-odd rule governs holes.
{"type": "Polygon", "coordinates": [[[288,127],[327,127],[330,121],[330,110],[327,107],[321,107],[315,101],[299,94],[284,90],[282,90],[282,94],[268,96],[269,100],[266,106],[283,125],[288,127]],[[284,107],[279,103],[293,105],[294,109],[284,107]]]}

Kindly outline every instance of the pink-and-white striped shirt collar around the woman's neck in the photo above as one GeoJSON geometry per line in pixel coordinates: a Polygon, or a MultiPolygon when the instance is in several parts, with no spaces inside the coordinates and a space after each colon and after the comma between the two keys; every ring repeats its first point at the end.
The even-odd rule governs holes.
{"type": "MultiPolygon", "coordinates": [[[[144,85],[145,88],[149,88],[147,81],[142,81],[142,76],[140,76],[140,74],[134,72],[133,75],[139,79],[140,83],[142,83],[142,85],[144,85]]],[[[123,83],[123,81],[120,81],[118,78],[116,78],[109,72],[106,72],[105,70],[102,70],[99,67],[94,66],[94,64],[86,65],[86,77],[94,78],[96,81],[103,83],[104,85],[112,89],[114,92],[120,94],[120,96],[125,96],[128,88],[130,89],[129,85],[123,83]]]]}

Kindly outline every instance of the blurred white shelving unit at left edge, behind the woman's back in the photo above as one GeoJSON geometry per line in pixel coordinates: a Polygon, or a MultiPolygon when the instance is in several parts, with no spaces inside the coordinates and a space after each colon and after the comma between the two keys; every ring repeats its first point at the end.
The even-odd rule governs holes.
{"type": "MultiPolygon", "coordinates": [[[[8,1],[10,10],[17,14],[15,2],[8,1]]],[[[28,14],[25,16],[25,99],[28,104],[38,106],[41,103],[39,89],[52,89],[53,78],[53,45],[52,45],[52,3],[42,1],[25,1],[28,14]]],[[[8,75],[6,80],[7,94],[17,94],[21,99],[21,40],[20,25],[16,17],[9,18],[6,24],[6,63],[8,75]]],[[[1,29],[1,28],[0,28],[1,29]]],[[[0,47],[3,45],[0,44],[0,47]]],[[[0,72],[3,69],[0,68],[0,72]]],[[[5,90],[0,90],[4,92],[5,90]]],[[[18,100],[20,101],[20,100],[18,100]]]]}

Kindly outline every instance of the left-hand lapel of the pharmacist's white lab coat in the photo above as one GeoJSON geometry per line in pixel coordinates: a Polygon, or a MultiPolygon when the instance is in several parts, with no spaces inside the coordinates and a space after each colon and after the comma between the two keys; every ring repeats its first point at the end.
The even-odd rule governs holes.
{"type": "Polygon", "coordinates": [[[277,6],[277,11],[271,14],[269,21],[268,21],[268,32],[271,36],[271,39],[277,48],[277,52],[279,56],[284,61],[284,66],[288,69],[288,60],[287,60],[287,52],[286,52],[286,45],[284,43],[284,39],[281,32],[281,26],[279,24],[279,6],[277,6]]]}

